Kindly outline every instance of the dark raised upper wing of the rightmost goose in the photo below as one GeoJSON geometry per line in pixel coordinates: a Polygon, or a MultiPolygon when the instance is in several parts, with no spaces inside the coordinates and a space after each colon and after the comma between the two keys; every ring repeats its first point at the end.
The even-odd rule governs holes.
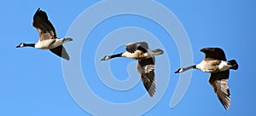
{"type": "Polygon", "coordinates": [[[205,59],[227,61],[224,50],[220,48],[204,48],[200,50],[205,53],[205,59]]]}

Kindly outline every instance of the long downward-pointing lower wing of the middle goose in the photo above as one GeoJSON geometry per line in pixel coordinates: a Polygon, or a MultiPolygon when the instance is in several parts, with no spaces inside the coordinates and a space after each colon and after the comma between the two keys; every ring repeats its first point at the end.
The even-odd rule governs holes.
{"type": "Polygon", "coordinates": [[[139,60],[137,70],[143,80],[143,85],[148,91],[149,96],[154,96],[155,93],[155,78],[154,78],[154,57],[139,60]]]}

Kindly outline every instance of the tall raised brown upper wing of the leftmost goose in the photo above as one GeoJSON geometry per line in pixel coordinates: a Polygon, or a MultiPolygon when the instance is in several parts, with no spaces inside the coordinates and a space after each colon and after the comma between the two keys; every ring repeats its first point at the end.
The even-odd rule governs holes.
{"type": "Polygon", "coordinates": [[[57,38],[55,27],[48,20],[47,14],[40,9],[34,14],[32,26],[37,28],[40,41],[57,38]]]}

